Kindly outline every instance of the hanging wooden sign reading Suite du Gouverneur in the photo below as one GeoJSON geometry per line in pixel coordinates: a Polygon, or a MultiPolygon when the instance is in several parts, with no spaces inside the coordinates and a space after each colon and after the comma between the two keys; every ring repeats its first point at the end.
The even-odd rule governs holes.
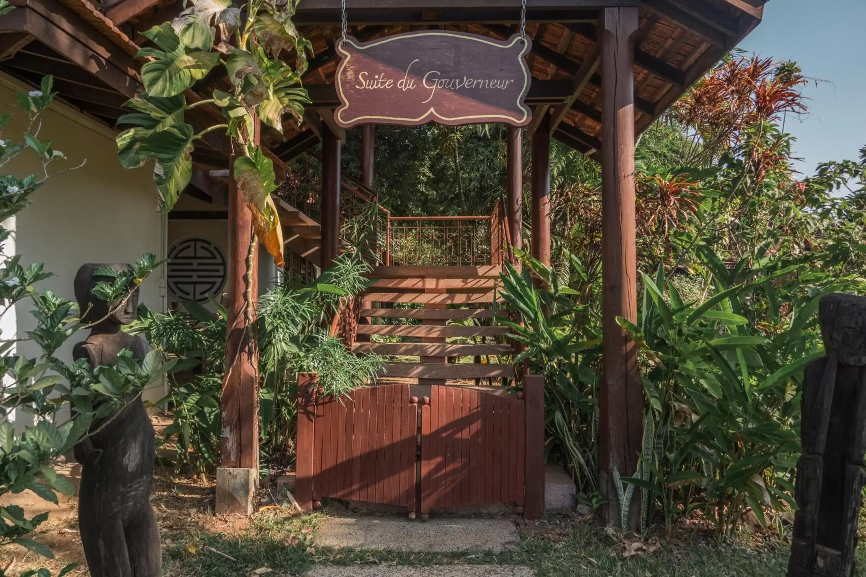
{"type": "Polygon", "coordinates": [[[423,30],[372,42],[338,41],[337,124],[524,126],[530,39],[423,30]]]}

